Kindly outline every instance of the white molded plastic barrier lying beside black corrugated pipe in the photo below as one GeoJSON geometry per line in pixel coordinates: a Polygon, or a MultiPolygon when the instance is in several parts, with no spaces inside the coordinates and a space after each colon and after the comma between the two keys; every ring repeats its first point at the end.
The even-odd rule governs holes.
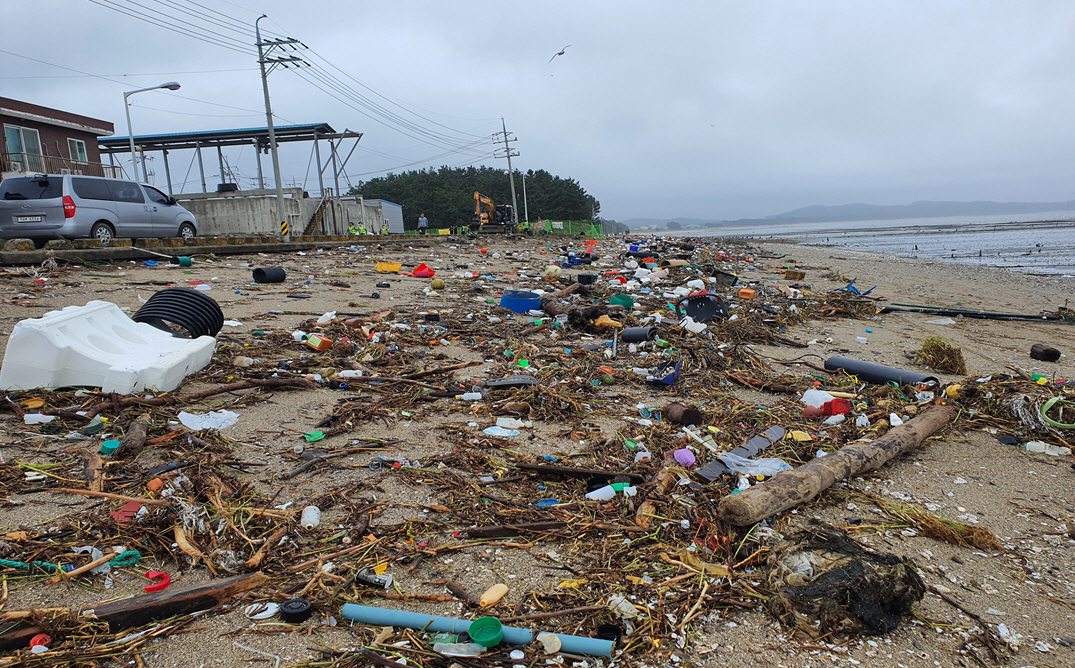
{"type": "Polygon", "coordinates": [[[22,321],[8,338],[0,389],[100,387],[104,392],[170,392],[205,368],[216,339],[178,339],[129,318],[114,303],[49,311],[22,321]]]}

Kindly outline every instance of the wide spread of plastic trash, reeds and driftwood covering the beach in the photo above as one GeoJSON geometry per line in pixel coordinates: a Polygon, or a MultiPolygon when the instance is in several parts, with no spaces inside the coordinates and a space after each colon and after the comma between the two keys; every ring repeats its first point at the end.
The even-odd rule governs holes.
{"type": "MultiPolygon", "coordinates": [[[[254,658],[245,637],[295,633],[318,649],[292,665],[338,667],[688,665],[713,651],[701,629],[766,603],[788,636],[887,634],[927,587],[860,540],[1002,541],[860,477],[954,427],[1070,445],[1066,385],[1019,369],[865,382],[763,354],[807,349],[796,326],[876,315],[876,293],[805,282],[828,268],[726,241],[444,243],[450,262],[429,242],[320,252],[336,270],[297,272],[285,298],[379,295],[227,321],[180,390],[10,392],[0,504],[90,504],[0,536],[0,666],[142,663],[205,611],[241,614],[229,637],[254,658]],[[403,285],[420,296],[385,298],[403,285]],[[258,404],[307,395],[304,422],[239,436],[258,404]],[[794,531],[787,511],[812,501],[876,516],[794,531]],[[92,600],[19,602],[60,586],[92,600]]],[[[942,339],[919,353],[965,373],[942,339]]],[[[1013,644],[989,633],[990,655],[1013,644]]]]}

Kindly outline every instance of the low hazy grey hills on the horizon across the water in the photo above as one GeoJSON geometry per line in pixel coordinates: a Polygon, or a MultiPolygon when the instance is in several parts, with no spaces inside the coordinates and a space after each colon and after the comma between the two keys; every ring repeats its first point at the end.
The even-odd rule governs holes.
{"type": "Polygon", "coordinates": [[[707,227],[745,227],[749,225],[786,225],[789,223],[844,223],[849,221],[894,221],[901,218],[940,218],[945,216],[983,216],[1049,211],[1075,211],[1075,200],[1066,202],[934,202],[911,204],[814,204],[764,218],[713,221],[704,218],[629,218],[619,223],[631,229],[700,229],[707,227]]]}

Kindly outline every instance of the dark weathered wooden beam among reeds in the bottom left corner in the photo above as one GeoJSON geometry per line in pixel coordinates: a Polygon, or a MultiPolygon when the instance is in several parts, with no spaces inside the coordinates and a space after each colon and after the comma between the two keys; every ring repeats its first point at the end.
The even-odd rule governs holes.
{"type": "MultiPolygon", "coordinates": [[[[214,580],[206,584],[192,587],[169,587],[163,592],[121,598],[119,600],[100,603],[88,609],[69,610],[72,615],[91,616],[106,622],[111,633],[126,628],[143,626],[155,620],[189,614],[199,610],[209,610],[223,602],[231,600],[235,595],[262,587],[269,583],[264,573],[235,575],[223,580],[214,580]]],[[[16,610],[0,615],[0,621],[17,621],[29,619],[35,611],[16,610]],[[9,616],[10,615],[10,616],[9,616]]],[[[0,634],[0,651],[23,648],[29,644],[30,638],[44,633],[40,626],[14,628],[0,634]]]]}

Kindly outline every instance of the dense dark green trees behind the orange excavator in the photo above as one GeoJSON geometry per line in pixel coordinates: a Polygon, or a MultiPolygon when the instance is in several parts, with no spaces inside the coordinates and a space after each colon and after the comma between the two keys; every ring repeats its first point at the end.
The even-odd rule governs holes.
{"type": "MultiPolygon", "coordinates": [[[[516,216],[530,221],[588,221],[601,212],[601,203],[574,179],[561,179],[543,169],[526,173],[527,207],[522,204],[522,176],[515,170],[515,190],[519,203],[516,216]]],[[[369,199],[385,199],[403,205],[408,229],[422,213],[430,227],[454,227],[470,223],[474,214],[474,191],[497,204],[512,203],[512,184],[507,173],[491,167],[420,169],[401,174],[362,181],[347,194],[369,199]]]]}

